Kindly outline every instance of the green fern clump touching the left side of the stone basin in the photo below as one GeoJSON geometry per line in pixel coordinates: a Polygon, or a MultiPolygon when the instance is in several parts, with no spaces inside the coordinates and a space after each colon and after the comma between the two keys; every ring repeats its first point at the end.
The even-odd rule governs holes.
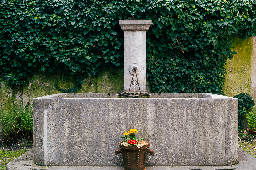
{"type": "Polygon", "coordinates": [[[34,141],[33,105],[25,106],[21,113],[21,127],[27,139],[34,141]]]}

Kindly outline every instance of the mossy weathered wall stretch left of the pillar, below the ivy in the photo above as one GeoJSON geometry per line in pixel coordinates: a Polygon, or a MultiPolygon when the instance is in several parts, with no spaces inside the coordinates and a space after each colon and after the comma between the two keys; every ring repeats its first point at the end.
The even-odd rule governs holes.
{"type": "MultiPolygon", "coordinates": [[[[85,74],[83,88],[78,89],[77,93],[122,92],[124,88],[123,75],[123,66],[108,68],[98,77],[85,74]]],[[[33,104],[33,98],[35,97],[62,93],[57,90],[55,83],[58,83],[61,88],[65,89],[75,87],[75,77],[69,76],[68,80],[62,81],[63,77],[65,77],[63,73],[54,73],[52,76],[36,74],[32,77],[34,81],[29,82],[28,85],[12,87],[4,77],[0,77],[0,109],[6,111],[12,109],[13,101],[18,102],[18,104],[23,103],[25,106],[28,103],[33,104]]]]}

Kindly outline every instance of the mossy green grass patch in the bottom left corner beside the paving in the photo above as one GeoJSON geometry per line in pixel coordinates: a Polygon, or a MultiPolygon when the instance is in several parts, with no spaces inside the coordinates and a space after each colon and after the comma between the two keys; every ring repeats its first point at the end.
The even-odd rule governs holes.
{"type": "Polygon", "coordinates": [[[0,169],[6,169],[7,164],[27,152],[29,149],[11,150],[6,151],[4,149],[0,150],[0,169]]]}

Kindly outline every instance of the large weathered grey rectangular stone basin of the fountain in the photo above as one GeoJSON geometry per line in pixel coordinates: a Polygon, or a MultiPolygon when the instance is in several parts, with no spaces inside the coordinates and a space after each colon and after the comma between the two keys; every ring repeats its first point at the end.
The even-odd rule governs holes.
{"type": "Polygon", "coordinates": [[[34,98],[34,163],[121,166],[115,155],[130,128],[150,141],[146,165],[238,163],[238,99],[209,93],[128,98],[60,93],[34,98]]]}

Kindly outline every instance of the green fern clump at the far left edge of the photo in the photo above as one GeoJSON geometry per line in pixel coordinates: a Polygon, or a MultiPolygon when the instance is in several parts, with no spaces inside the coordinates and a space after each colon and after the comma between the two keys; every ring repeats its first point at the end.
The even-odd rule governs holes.
{"type": "Polygon", "coordinates": [[[14,110],[9,111],[8,114],[2,110],[0,114],[4,141],[6,145],[12,145],[13,143],[17,142],[20,132],[20,124],[17,122],[20,117],[19,109],[16,107],[14,110]]]}

